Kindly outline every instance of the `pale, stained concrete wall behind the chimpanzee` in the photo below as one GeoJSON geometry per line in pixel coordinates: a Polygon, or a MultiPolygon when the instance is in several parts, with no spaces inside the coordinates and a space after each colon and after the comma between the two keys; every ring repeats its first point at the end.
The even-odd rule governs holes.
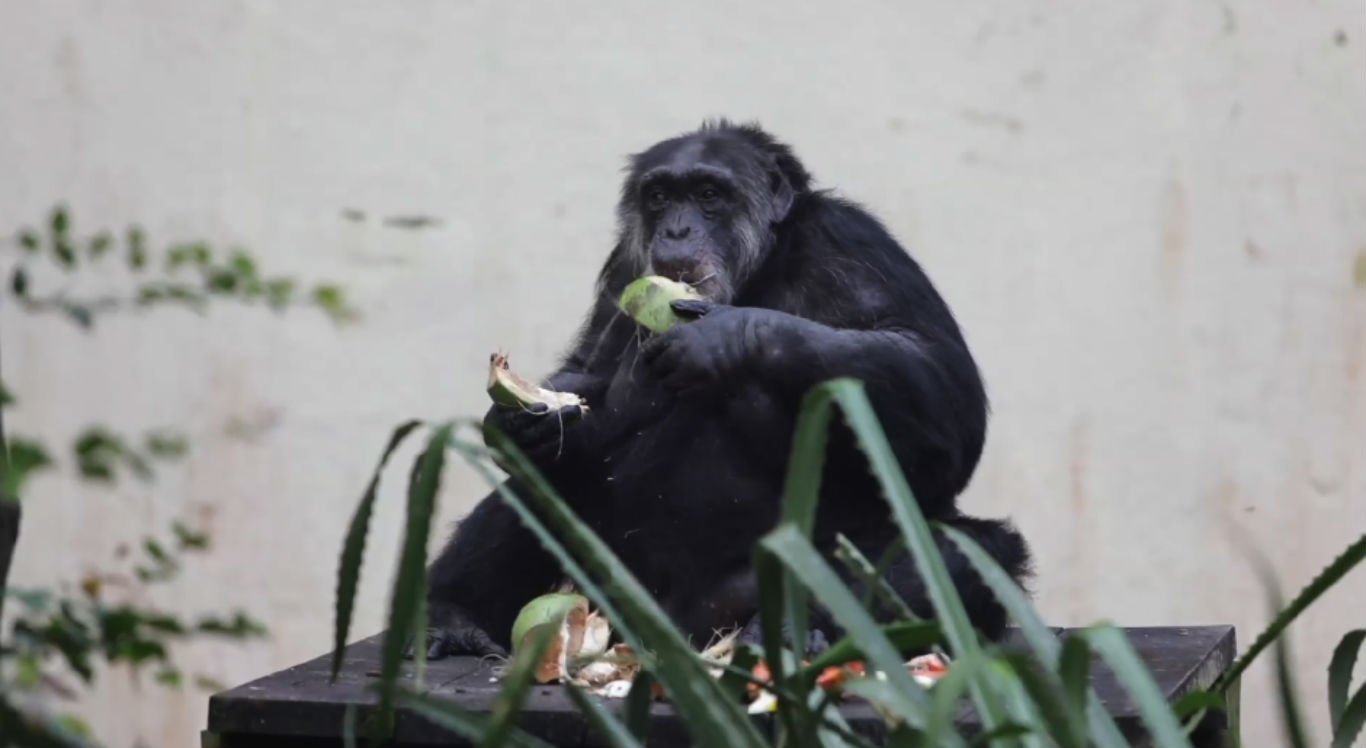
{"type": "MultiPolygon", "coordinates": [[[[0,5],[0,29],[5,231],[64,199],[78,229],[247,244],[366,313],[337,332],[167,311],[92,336],[4,313],[12,427],[179,423],[195,448],[150,489],[36,485],[16,581],[206,516],[214,553],[160,601],[269,622],[269,643],[183,652],[224,681],[328,647],[343,527],[388,429],[481,414],[497,347],[544,371],[609,247],[624,154],[709,115],[791,141],[941,287],[994,401],[964,504],[1018,519],[1053,621],[1228,621],[1246,643],[1264,605],[1235,532],[1298,587],[1366,527],[1355,0],[48,0],[0,5]]],[[[396,486],[359,632],[380,627],[396,486]]],[[[479,493],[458,472],[444,519],[479,493]]],[[[1321,738],[1363,579],[1294,631],[1321,738]]],[[[1277,743],[1266,667],[1244,695],[1249,743],[1277,743]]],[[[193,744],[204,707],[119,673],[82,703],[119,745],[193,744]]]]}

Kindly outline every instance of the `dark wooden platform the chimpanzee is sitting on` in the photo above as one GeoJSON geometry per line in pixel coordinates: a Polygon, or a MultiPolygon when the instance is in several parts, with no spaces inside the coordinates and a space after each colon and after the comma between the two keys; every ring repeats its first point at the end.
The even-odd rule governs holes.
{"type": "MultiPolygon", "coordinates": [[[[1214,681],[1233,662],[1232,627],[1132,628],[1130,642],[1153,670],[1169,700],[1214,681]]],[[[1059,631],[1067,636],[1065,629],[1059,631]]],[[[328,682],[329,657],[322,655],[287,670],[220,692],[209,700],[209,723],[204,732],[205,748],[322,748],[342,745],[342,721],[348,704],[374,704],[372,685],[380,669],[378,636],[351,644],[346,670],[336,684],[328,682]]],[[[404,666],[404,677],[413,667],[404,666]]],[[[437,695],[463,706],[488,711],[497,695],[499,682],[489,665],[474,658],[451,658],[428,665],[428,687],[437,695]]],[[[1097,663],[1093,684],[1120,729],[1135,745],[1143,744],[1138,715],[1115,676],[1097,663]]],[[[611,702],[620,708],[622,700],[611,702]]],[[[867,704],[841,707],[851,726],[869,736],[882,733],[881,719],[867,704]]],[[[1229,730],[1236,730],[1236,695],[1233,725],[1212,719],[1197,736],[1197,745],[1223,745],[1229,730]]],[[[650,745],[688,745],[687,733],[668,704],[654,704],[650,745]]],[[[768,719],[768,718],[759,718],[768,719]]],[[[964,729],[975,728],[971,710],[964,710],[964,729]]],[[[589,729],[564,695],[563,687],[534,687],[527,697],[520,725],[548,743],[563,747],[600,747],[602,743],[589,729]]],[[[467,745],[451,733],[408,714],[400,714],[395,747],[467,745]]]]}

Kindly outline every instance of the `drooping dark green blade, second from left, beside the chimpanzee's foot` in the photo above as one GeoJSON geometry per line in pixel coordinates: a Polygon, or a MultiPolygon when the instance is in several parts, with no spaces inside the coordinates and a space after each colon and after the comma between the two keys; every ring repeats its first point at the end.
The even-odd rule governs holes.
{"type": "Polygon", "coordinates": [[[380,648],[380,725],[392,725],[393,692],[403,662],[403,647],[414,633],[418,610],[426,595],[426,545],[432,535],[432,515],[436,510],[436,491],[445,465],[445,445],[451,440],[452,425],[438,427],[428,440],[408,482],[407,523],[399,551],[399,569],[393,580],[389,603],[389,628],[380,648]]]}

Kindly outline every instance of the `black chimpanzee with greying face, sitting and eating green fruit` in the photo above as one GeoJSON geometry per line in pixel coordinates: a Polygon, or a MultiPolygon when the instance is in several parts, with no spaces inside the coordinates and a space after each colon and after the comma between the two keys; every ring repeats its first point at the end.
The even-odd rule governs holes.
{"type": "MultiPolygon", "coordinates": [[[[619,238],[597,302],[546,386],[589,403],[548,412],[493,407],[508,434],[656,595],[694,644],[750,624],[754,543],[775,527],[803,394],[854,377],[926,516],[970,534],[1016,579],[1029,551],[1007,521],[960,515],[986,434],[986,393],[948,306],[919,265],[858,205],[811,188],[792,150],[758,126],[706,123],[632,157],[619,238]],[[658,336],[620,313],[637,277],[691,284],[694,319],[658,336]]],[[[837,419],[836,419],[837,420],[837,419]]],[[[844,534],[876,560],[895,538],[852,433],[831,434],[817,516],[824,551],[844,534]]],[[[1005,613],[940,538],[968,614],[999,637],[1005,613]]],[[[512,620],[561,569],[489,495],[430,569],[429,657],[510,646],[512,620]]],[[[888,581],[932,612],[903,556],[888,581]]],[[[817,614],[818,635],[835,624],[817,614]]]]}

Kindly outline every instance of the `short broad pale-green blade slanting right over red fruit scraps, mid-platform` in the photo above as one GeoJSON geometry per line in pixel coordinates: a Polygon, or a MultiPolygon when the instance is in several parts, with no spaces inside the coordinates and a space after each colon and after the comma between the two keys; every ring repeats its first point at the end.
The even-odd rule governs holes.
{"type": "Polygon", "coordinates": [[[907,723],[923,728],[929,706],[925,691],[911,678],[906,662],[882,633],[882,628],[859,606],[858,598],[825,564],[810,541],[795,527],[784,524],[769,532],[759,545],[780,558],[787,569],[829,609],[848,636],[867,654],[872,669],[887,673],[889,684],[887,706],[907,723]]]}

